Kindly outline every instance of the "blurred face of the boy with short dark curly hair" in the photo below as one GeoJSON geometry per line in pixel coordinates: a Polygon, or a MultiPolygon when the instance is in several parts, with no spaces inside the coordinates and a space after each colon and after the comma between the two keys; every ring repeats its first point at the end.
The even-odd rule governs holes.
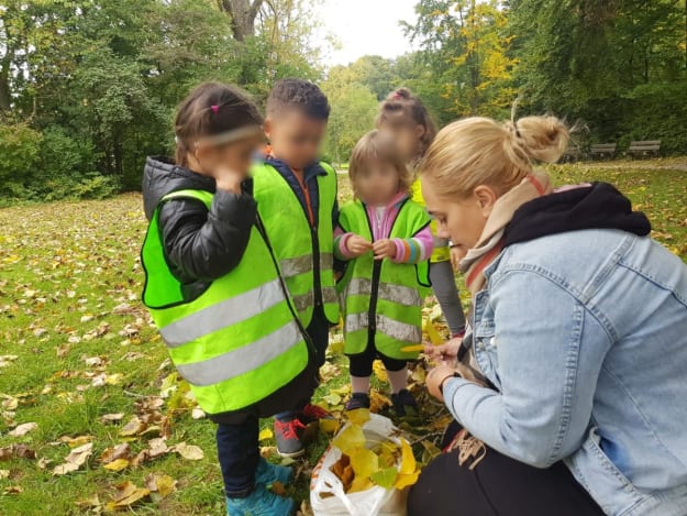
{"type": "Polygon", "coordinates": [[[308,117],[296,108],[265,120],[272,152],[291,168],[302,169],[318,158],[325,131],[326,120],[308,117]]]}

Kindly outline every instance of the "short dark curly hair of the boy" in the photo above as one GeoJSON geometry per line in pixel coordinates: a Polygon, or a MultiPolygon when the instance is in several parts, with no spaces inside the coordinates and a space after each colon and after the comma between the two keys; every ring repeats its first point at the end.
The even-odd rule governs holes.
{"type": "Polygon", "coordinates": [[[308,117],[328,120],[330,105],[320,88],[308,80],[278,80],[267,97],[267,116],[272,117],[285,108],[300,109],[308,117]]]}

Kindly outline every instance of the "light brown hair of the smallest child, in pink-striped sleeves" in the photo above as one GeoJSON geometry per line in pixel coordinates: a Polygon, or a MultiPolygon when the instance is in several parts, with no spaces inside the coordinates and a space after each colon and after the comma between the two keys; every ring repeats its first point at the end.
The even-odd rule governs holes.
{"type": "Polygon", "coordinates": [[[386,162],[394,165],[398,172],[399,191],[410,193],[414,178],[413,173],[408,169],[394,140],[375,129],[361,138],[351,153],[348,179],[355,198],[358,198],[356,184],[359,175],[374,166],[375,162],[386,162]]]}

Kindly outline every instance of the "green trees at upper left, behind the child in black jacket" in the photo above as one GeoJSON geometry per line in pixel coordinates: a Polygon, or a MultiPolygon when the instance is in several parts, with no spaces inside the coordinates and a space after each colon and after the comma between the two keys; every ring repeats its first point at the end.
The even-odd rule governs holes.
{"type": "Polygon", "coordinates": [[[321,77],[309,3],[254,1],[241,29],[224,3],[246,2],[0,0],[0,132],[13,136],[0,197],[138,188],[145,155],[171,150],[175,107],[197,84],[239,84],[262,101],[281,77],[321,77]],[[37,163],[41,174],[24,173],[37,163]],[[5,188],[13,175],[23,179],[5,188]]]}

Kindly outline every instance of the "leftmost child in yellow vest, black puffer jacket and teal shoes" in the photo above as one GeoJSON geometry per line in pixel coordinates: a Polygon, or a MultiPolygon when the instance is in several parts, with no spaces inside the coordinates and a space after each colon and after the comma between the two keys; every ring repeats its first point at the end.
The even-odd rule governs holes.
{"type": "Polygon", "coordinates": [[[228,515],[288,515],[293,501],[269,486],[292,471],[261,457],[258,418],[307,403],[317,366],[248,178],[263,118],[241,91],[206,83],[175,133],[176,158],[148,157],[144,172],[143,301],[218,424],[228,515]]]}

